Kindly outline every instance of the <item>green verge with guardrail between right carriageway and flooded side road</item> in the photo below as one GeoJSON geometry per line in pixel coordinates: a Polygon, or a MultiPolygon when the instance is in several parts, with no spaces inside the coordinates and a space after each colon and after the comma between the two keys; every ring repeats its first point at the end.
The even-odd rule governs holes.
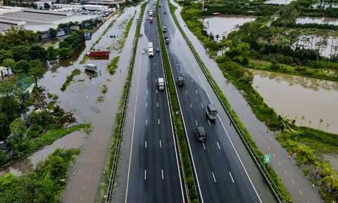
{"type": "Polygon", "coordinates": [[[194,47],[192,46],[191,42],[189,42],[189,39],[187,39],[187,36],[185,35],[184,31],[182,30],[182,27],[180,27],[180,23],[178,23],[177,17],[175,16],[176,7],[173,6],[172,4],[170,4],[169,1],[168,1],[168,4],[170,6],[170,12],[173,15],[173,18],[175,20],[177,27],[181,31],[183,37],[187,40],[187,43],[188,43],[190,49],[192,49],[196,60],[199,61],[199,63],[201,64],[201,69],[204,70],[204,74],[206,75],[206,78],[209,79],[208,82],[211,84],[211,87],[213,87],[213,90],[215,91],[218,99],[221,101],[221,104],[224,105],[223,108],[225,108],[225,111],[227,112],[228,116],[230,118],[232,118],[232,122],[235,125],[237,125],[237,128],[235,128],[235,129],[237,130],[239,135],[242,135],[242,137],[241,137],[242,140],[244,141],[244,143],[247,144],[247,145],[246,144],[244,144],[244,145],[249,150],[251,150],[251,152],[254,154],[253,159],[258,161],[258,165],[261,168],[261,172],[266,174],[269,182],[272,183],[272,185],[273,185],[273,189],[278,193],[278,195],[277,195],[278,197],[276,197],[276,198],[280,198],[280,199],[284,198],[287,202],[292,202],[292,198],[290,197],[289,192],[287,192],[284,185],[280,181],[280,178],[278,178],[275,171],[273,171],[273,168],[272,167],[267,168],[267,167],[264,166],[265,164],[263,164],[263,161],[261,160],[261,157],[264,156],[264,154],[258,150],[258,148],[256,147],[256,143],[253,141],[251,135],[248,133],[248,131],[244,127],[244,124],[242,123],[242,121],[240,121],[237,114],[234,111],[232,111],[232,108],[231,108],[229,101],[227,101],[227,98],[223,94],[222,90],[220,90],[220,87],[217,85],[217,83],[213,79],[211,73],[208,71],[208,68],[206,68],[203,61],[201,59],[199,59],[199,56],[196,53],[196,50],[194,50],[194,47]]]}

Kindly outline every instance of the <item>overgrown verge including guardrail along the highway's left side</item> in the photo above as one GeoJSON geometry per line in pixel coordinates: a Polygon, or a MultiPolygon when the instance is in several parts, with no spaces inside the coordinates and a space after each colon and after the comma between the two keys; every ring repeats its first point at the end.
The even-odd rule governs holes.
{"type": "MultiPolygon", "coordinates": [[[[139,18],[144,16],[144,11],[148,2],[142,4],[141,12],[139,13],[139,18]]],[[[134,17],[133,17],[134,19],[134,17]]],[[[130,20],[132,25],[132,21],[130,20]]],[[[128,23],[129,24],[129,23],[128,23]]],[[[134,70],[134,59],[137,51],[137,42],[139,39],[139,32],[141,31],[141,23],[137,23],[137,27],[134,35],[134,42],[132,44],[132,56],[130,59],[130,65],[128,67],[128,75],[125,79],[125,85],[123,87],[123,93],[120,99],[120,104],[118,106],[118,113],[115,116],[115,128],[112,135],[112,143],[109,148],[109,154],[106,160],[106,166],[104,169],[103,182],[100,184],[101,189],[98,202],[105,202],[106,198],[111,198],[111,193],[113,192],[113,186],[115,181],[115,176],[117,176],[116,168],[118,166],[118,156],[120,151],[120,142],[123,138],[123,128],[124,128],[124,116],[125,110],[127,108],[127,97],[129,96],[130,85],[132,82],[132,72],[134,70]],[[108,195],[108,196],[106,196],[108,195]]],[[[129,28],[130,30],[130,28],[129,28]]],[[[129,32],[129,31],[128,31],[129,32]]]]}

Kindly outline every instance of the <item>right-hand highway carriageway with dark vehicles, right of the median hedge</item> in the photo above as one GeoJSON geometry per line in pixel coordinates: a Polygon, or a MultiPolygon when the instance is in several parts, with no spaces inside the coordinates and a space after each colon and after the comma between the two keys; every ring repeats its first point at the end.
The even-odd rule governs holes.
{"type": "MultiPolygon", "coordinates": [[[[160,4],[167,4],[166,0],[160,4]]],[[[245,168],[239,153],[232,143],[231,136],[236,135],[234,128],[225,128],[223,123],[230,123],[229,118],[218,117],[215,121],[208,121],[206,105],[218,103],[215,93],[208,91],[208,82],[198,74],[196,62],[193,63],[189,54],[190,50],[177,29],[170,15],[168,4],[159,8],[161,26],[168,29],[170,44],[167,51],[173,77],[182,76],[184,86],[176,85],[179,97],[188,144],[192,151],[194,169],[197,176],[199,193],[202,202],[265,202],[265,197],[260,197],[249,177],[248,169],[245,168]],[[166,14],[164,14],[166,11],[166,14]],[[205,85],[205,86],[204,86],[205,85]],[[202,126],[206,130],[207,140],[199,142],[195,135],[195,128],[202,126]],[[261,199],[262,198],[262,199],[261,199]]],[[[169,76],[168,76],[169,77],[169,76]]],[[[209,90],[209,88],[208,88],[209,90]]],[[[219,104],[216,106],[220,106],[219,104]]],[[[218,108],[218,111],[224,111],[218,108]]],[[[241,152],[243,153],[243,152],[241,152]]],[[[247,153],[247,152],[246,152],[247,153]]],[[[256,167],[250,170],[258,169],[256,167]]],[[[270,193],[270,191],[268,191],[270,193]]],[[[271,194],[269,202],[271,201],[271,194]]]]}

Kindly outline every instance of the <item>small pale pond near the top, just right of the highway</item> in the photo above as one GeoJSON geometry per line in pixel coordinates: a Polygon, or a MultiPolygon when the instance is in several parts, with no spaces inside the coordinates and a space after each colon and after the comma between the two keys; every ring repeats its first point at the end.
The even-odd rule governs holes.
{"type": "Polygon", "coordinates": [[[246,22],[256,20],[257,16],[242,15],[219,15],[206,16],[202,18],[204,28],[208,33],[212,32],[214,36],[220,35],[220,39],[234,31],[235,25],[243,25],[246,22]]]}

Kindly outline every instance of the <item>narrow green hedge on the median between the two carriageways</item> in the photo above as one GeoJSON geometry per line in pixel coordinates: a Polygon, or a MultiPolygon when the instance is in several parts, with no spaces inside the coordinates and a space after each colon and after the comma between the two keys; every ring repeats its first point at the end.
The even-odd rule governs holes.
{"type": "MultiPolygon", "coordinates": [[[[169,1],[168,3],[170,4],[169,1]]],[[[160,18],[158,17],[158,3],[156,6],[156,11],[157,11],[156,22],[157,22],[158,32],[162,33],[160,18]]],[[[179,114],[175,113],[176,111],[180,111],[179,104],[177,101],[177,94],[175,90],[175,82],[171,75],[171,67],[170,67],[170,63],[168,59],[168,54],[165,48],[164,37],[163,35],[159,35],[159,36],[160,36],[160,43],[161,43],[161,53],[162,53],[163,61],[164,61],[163,66],[165,70],[165,75],[167,75],[166,78],[168,80],[170,104],[171,104],[171,109],[173,111],[173,117],[174,117],[175,134],[177,137],[180,157],[182,160],[181,162],[182,162],[182,168],[183,168],[184,182],[185,182],[185,185],[187,186],[187,194],[189,196],[190,202],[199,202],[198,193],[195,187],[196,180],[194,178],[194,173],[192,171],[192,164],[190,161],[187,142],[185,141],[182,119],[179,114]]]]}

